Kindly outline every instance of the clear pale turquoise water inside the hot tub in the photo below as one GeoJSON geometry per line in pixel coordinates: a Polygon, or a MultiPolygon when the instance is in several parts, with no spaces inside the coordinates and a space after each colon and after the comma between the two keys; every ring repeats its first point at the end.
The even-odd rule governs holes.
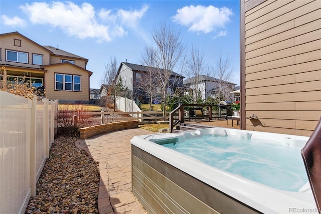
{"type": "Polygon", "coordinates": [[[299,147],[273,144],[264,139],[213,135],[163,146],[280,190],[298,191],[308,181],[299,147]]]}

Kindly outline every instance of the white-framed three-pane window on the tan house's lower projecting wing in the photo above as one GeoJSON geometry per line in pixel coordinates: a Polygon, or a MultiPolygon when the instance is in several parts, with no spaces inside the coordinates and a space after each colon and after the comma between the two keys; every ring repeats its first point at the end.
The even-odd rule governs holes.
{"type": "Polygon", "coordinates": [[[81,76],[71,74],[55,74],[55,90],[81,91],[81,76]]]}

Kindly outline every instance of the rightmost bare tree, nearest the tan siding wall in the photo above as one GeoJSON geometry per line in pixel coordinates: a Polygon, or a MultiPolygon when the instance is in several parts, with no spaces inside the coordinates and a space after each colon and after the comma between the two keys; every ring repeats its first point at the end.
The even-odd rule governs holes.
{"type": "Polygon", "coordinates": [[[213,69],[213,77],[218,80],[214,98],[218,104],[222,100],[231,100],[232,98],[230,92],[233,90],[233,84],[231,84],[232,69],[230,67],[230,59],[224,58],[220,53],[213,69]]]}

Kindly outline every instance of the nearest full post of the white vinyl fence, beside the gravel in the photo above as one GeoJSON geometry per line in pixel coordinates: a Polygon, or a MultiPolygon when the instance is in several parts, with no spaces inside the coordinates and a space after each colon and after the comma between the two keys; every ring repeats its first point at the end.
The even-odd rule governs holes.
{"type": "Polygon", "coordinates": [[[37,136],[37,96],[32,96],[30,117],[30,186],[31,196],[36,196],[37,190],[37,166],[36,166],[36,136],[37,136]]]}

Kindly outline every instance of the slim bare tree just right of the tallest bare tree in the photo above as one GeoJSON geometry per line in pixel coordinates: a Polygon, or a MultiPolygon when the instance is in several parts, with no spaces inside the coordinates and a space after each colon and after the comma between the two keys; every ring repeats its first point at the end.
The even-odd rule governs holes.
{"type": "MultiPolygon", "coordinates": [[[[207,65],[204,63],[203,50],[192,45],[190,51],[190,60],[188,63],[190,82],[188,83],[192,88],[192,98],[194,103],[204,101],[202,97],[202,91],[206,91],[204,87],[200,85],[200,76],[205,74],[207,65]]],[[[205,96],[206,98],[206,96],[205,96]]]]}

